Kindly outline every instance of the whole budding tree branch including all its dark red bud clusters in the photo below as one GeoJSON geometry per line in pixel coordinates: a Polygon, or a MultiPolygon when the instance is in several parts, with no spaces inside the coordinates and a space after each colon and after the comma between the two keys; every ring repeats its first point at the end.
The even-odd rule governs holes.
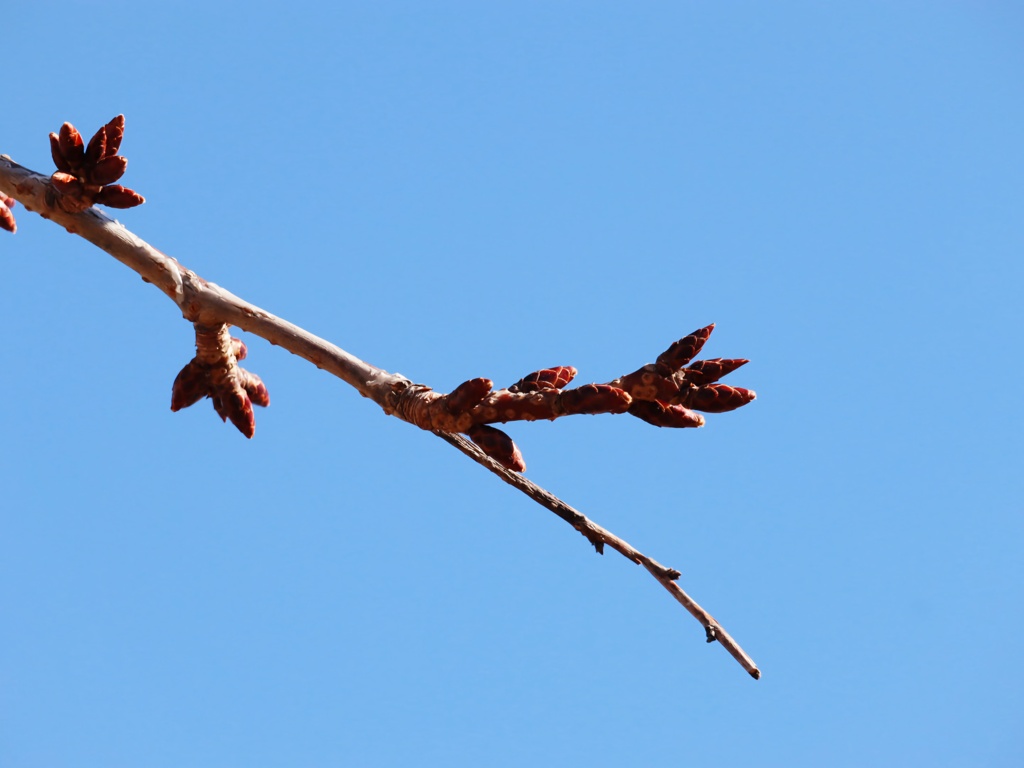
{"type": "MultiPolygon", "coordinates": [[[[116,120],[100,130],[110,130],[116,120]]],[[[123,130],[123,121],[120,126],[123,130]]],[[[57,148],[54,150],[55,161],[61,159],[59,140],[65,138],[65,133],[62,129],[57,148]]],[[[77,136],[77,131],[74,135],[77,136]]],[[[72,139],[68,143],[72,151],[77,152],[76,147],[82,144],[81,139],[77,139],[77,144],[72,139]]],[[[94,137],[88,152],[92,153],[93,159],[99,158],[102,162],[105,157],[103,148],[100,146],[95,151],[95,141],[97,139],[94,137]]],[[[116,152],[116,147],[114,151],[116,152]]],[[[57,162],[57,166],[59,174],[62,172],[60,162],[57,162]]],[[[702,418],[688,411],[686,406],[716,412],[737,408],[754,398],[754,393],[749,390],[713,383],[745,360],[706,360],[682,370],[682,366],[689,362],[707,340],[712,327],[676,342],[658,357],[657,362],[645,366],[610,384],[589,384],[563,391],[561,386],[575,374],[574,370],[563,367],[539,371],[509,389],[494,393],[490,392],[492,383],[488,380],[474,379],[443,395],[432,392],[429,387],[413,384],[399,374],[391,374],[365,362],[308,331],[200,278],[176,259],[145,243],[96,208],[90,207],[91,204],[86,206],[85,203],[91,200],[101,201],[100,196],[112,197],[110,193],[103,191],[110,185],[88,186],[88,182],[95,181],[97,177],[97,173],[88,166],[81,170],[72,163],[71,171],[78,172],[85,179],[82,183],[86,184],[83,187],[86,197],[72,198],[71,204],[66,204],[61,194],[71,193],[61,193],[61,185],[55,184],[51,177],[24,168],[5,155],[0,156],[0,203],[4,204],[9,214],[12,203],[7,198],[16,200],[27,210],[51,219],[69,232],[89,241],[133,269],[143,281],[156,286],[194,324],[197,330],[197,357],[182,370],[175,381],[172,397],[174,410],[209,395],[214,400],[217,413],[222,418],[230,418],[236,426],[251,437],[254,422],[251,404],[246,403],[251,397],[255,404],[266,404],[268,398],[265,396],[265,388],[262,389],[262,395],[259,394],[262,387],[259,379],[238,368],[238,360],[245,356],[245,345],[229,338],[227,327],[237,326],[259,336],[338,377],[362,396],[374,400],[386,414],[433,431],[505,482],[565,520],[586,537],[598,553],[603,554],[604,546],[607,545],[624,557],[643,565],[701,624],[708,642],[717,640],[748,673],[755,679],[760,677],[761,673],[751,657],[678,585],[678,570],[647,557],[583,513],[518,472],[512,471],[523,468],[521,457],[518,458],[518,463],[516,461],[518,449],[503,432],[486,426],[487,422],[513,419],[555,418],[569,413],[623,413],[627,410],[657,426],[699,426],[703,423],[702,418]],[[228,400],[233,400],[234,404],[228,400]],[[248,431],[247,424],[250,425],[248,431]],[[467,432],[478,444],[455,434],[456,431],[467,432]],[[502,438],[507,440],[507,444],[502,438]]],[[[69,175],[65,173],[65,176],[69,175]]],[[[100,179],[102,180],[104,179],[100,179]]],[[[74,186],[68,179],[63,179],[61,183],[66,188],[74,186]]],[[[73,193],[81,195],[78,187],[73,193]]],[[[117,195],[124,197],[121,193],[117,195]]],[[[141,201],[141,198],[138,197],[138,200],[141,201]]],[[[12,217],[10,225],[5,228],[13,230],[12,217]]]]}

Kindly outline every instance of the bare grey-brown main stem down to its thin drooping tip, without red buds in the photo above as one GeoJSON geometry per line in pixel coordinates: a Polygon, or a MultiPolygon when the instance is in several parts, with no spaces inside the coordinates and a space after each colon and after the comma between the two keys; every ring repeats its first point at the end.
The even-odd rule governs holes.
{"type": "MultiPolygon", "coordinates": [[[[136,271],[143,281],[154,284],[166,294],[189,322],[210,327],[217,324],[237,326],[334,374],[361,395],[377,402],[385,413],[401,416],[395,413],[395,406],[398,395],[410,386],[411,382],[406,377],[371,366],[308,331],[203,280],[96,208],[68,213],[53,204],[53,190],[48,177],[17,165],[5,155],[0,155],[0,194],[14,198],[27,210],[43,218],[52,219],[69,232],[84,238],[136,271]]],[[[565,520],[583,534],[598,553],[603,554],[607,545],[624,557],[643,565],[700,623],[708,642],[717,640],[752,677],[761,677],[757,665],[735,640],[679,586],[678,570],[647,557],[537,483],[506,469],[461,435],[433,431],[477,464],[565,520]]]]}

